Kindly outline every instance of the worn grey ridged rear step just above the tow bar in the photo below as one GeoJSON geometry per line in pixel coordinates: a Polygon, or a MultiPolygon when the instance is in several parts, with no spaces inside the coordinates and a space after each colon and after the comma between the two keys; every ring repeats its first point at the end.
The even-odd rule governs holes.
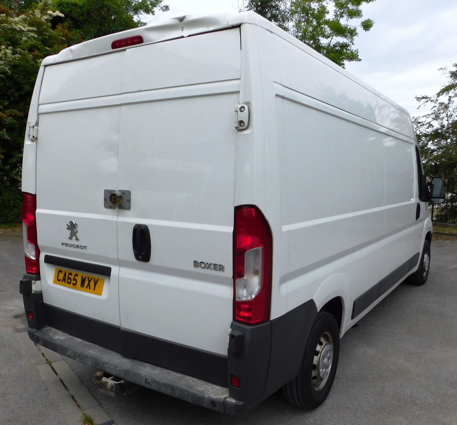
{"type": "Polygon", "coordinates": [[[112,376],[209,409],[235,413],[239,405],[239,402],[228,397],[228,388],[122,357],[117,352],[49,326],[35,331],[33,341],[112,376]]]}

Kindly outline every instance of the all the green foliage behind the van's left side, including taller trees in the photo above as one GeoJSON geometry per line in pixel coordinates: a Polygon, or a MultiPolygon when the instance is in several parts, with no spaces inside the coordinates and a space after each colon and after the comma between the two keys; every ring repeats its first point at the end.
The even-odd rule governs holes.
{"type": "Polygon", "coordinates": [[[0,0],[0,224],[21,215],[22,147],[43,58],[92,37],[142,26],[144,14],[168,10],[162,1],[0,0]]]}

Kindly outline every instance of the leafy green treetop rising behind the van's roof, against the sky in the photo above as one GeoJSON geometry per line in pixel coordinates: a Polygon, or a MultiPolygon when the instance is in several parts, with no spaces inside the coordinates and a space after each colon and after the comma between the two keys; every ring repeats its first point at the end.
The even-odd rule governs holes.
{"type": "Polygon", "coordinates": [[[361,60],[355,39],[360,28],[370,31],[374,24],[371,19],[359,21],[361,6],[373,1],[247,0],[241,9],[254,10],[344,68],[346,62],[361,60]]]}

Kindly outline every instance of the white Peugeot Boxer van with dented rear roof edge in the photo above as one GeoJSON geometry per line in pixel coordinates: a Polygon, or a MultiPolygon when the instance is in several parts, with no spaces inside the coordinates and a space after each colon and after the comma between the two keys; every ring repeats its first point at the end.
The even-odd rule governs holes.
{"type": "Polygon", "coordinates": [[[220,412],[317,407],[340,337],[427,279],[421,167],[406,110],[255,13],[66,48],[24,146],[29,335],[220,412]]]}

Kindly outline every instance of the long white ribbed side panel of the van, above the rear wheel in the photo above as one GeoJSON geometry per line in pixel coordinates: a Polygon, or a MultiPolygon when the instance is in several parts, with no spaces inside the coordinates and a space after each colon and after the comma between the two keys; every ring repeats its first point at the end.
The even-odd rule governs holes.
{"type": "Polygon", "coordinates": [[[354,299],[416,254],[414,140],[395,121],[409,117],[398,111],[395,131],[381,126],[372,92],[279,37],[276,48],[280,58],[296,58],[280,60],[276,101],[287,164],[288,310],[309,297],[319,310],[329,295],[340,296],[344,323],[354,299]],[[307,78],[295,77],[299,69],[307,78]]]}

